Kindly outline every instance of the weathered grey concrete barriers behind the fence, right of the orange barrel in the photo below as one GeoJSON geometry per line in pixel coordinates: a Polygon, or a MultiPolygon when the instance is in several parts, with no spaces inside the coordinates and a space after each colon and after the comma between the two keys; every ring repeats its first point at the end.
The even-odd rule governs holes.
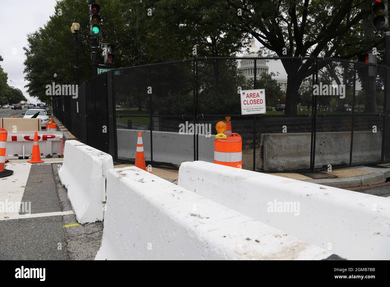
{"type": "MultiPolygon", "coordinates": [[[[261,135],[261,161],[264,170],[300,170],[310,164],[311,133],[278,133],[261,135]]],[[[351,132],[317,132],[315,168],[328,164],[349,164],[351,132]]],[[[382,133],[353,133],[352,163],[380,162],[382,133]]]]}

